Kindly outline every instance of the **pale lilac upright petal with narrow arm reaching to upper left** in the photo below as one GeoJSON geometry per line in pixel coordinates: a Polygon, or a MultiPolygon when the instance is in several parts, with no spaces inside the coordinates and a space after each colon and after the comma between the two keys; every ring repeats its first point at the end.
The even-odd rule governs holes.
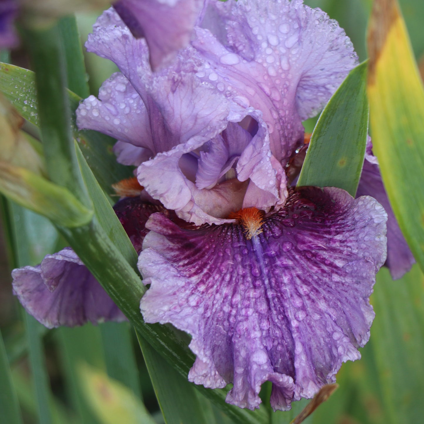
{"type": "Polygon", "coordinates": [[[226,128],[231,105],[218,90],[205,86],[196,77],[200,59],[193,49],[181,52],[172,67],[152,73],[146,61],[145,42],[134,39],[128,28],[122,22],[117,25],[117,21],[119,17],[113,9],[103,12],[86,47],[114,61],[144,103],[148,115],[145,127],[153,145],[142,137],[132,144],[153,153],[164,152],[192,137],[197,137],[193,144],[199,140],[203,144],[226,128]]]}

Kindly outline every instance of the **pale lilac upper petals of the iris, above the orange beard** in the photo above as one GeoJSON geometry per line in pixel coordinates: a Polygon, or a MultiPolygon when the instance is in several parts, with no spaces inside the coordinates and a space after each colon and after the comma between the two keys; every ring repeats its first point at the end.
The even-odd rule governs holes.
{"type": "Polygon", "coordinates": [[[211,1],[201,18],[190,45],[152,73],[145,40],[106,11],[86,47],[122,73],[77,111],[80,128],[120,140],[119,159],[139,165],[153,198],[197,225],[284,205],[301,120],[357,63],[337,22],[299,0],[211,1]]]}

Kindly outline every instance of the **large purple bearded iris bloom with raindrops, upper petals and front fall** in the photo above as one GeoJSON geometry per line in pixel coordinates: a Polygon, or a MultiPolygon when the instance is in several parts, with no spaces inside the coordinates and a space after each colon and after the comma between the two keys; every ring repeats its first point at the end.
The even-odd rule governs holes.
{"type": "MultiPolygon", "coordinates": [[[[135,2],[119,4],[136,16],[135,2]]],[[[232,382],[227,401],[253,409],[269,380],[273,408],[286,410],[360,357],[386,259],[387,214],[373,198],[287,187],[301,121],[357,57],[337,22],[300,0],[202,6],[190,43],[162,67],[147,32],[136,38],[128,16],[104,12],[86,47],[121,72],[81,103],[77,122],[117,138],[142,204],[163,207],[142,219],[145,321],[192,335],[190,381],[232,382]]]]}

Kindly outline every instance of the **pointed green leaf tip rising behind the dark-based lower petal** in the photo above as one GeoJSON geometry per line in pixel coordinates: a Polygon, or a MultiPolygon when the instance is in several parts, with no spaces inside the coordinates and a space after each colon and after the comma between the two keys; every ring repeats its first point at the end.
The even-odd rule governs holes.
{"type": "Polygon", "coordinates": [[[347,76],[321,113],[297,185],[338,187],[355,195],[368,132],[366,62],[347,76]]]}

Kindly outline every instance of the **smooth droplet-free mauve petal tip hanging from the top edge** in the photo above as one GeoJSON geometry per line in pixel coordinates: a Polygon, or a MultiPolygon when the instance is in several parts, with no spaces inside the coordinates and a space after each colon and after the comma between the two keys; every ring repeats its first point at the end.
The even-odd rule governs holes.
{"type": "Polygon", "coordinates": [[[145,37],[155,70],[188,45],[203,5],[204,0],[120,0],[114,8],[134,36],[145,37]]]}

